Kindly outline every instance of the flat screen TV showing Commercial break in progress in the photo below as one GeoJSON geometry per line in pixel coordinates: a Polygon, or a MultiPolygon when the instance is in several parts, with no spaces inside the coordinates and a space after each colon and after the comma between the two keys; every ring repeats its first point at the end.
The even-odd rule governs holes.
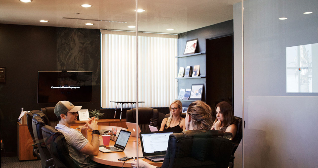
{"type": "Polygon", "coordinates": [[[38,103],[92,102],[93,72],[38,71],[38,103]]]}

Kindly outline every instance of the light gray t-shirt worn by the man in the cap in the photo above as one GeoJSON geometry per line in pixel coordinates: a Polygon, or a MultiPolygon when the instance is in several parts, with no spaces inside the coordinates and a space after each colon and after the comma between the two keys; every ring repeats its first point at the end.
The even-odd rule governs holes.
{"type": "Polygon", "coordinates": [[[79,152],[88,143],[88,140],[81,132],[62,124],[57,124],[55,128],[59,130],[59,132],[63,133],[70,156],[77,165],[83,167],[88,164],[96,164],[96,162],[89,159],[88,155],[79,152]]]}

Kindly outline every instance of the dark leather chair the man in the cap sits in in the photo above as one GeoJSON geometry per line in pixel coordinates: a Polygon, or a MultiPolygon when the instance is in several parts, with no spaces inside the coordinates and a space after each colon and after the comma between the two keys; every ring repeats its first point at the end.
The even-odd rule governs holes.
{"type": "MultiPolygon", "coordinates": [[[[45,145],[54,159],[56,168],[79,168],[71,159],[64,135],[57,129],[46,125],[41,128],[45,145]]],[[[96,168],[105,165],[85,166],[82,168],[96,168]]]]}

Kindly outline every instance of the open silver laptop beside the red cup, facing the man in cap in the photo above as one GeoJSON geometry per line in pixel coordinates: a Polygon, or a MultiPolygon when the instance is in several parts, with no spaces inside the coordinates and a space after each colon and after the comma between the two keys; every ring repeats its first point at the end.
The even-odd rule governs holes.
{"type": "Polygon", "coordinates": [[[106,146],[106,147],[100,147],[100,152],[108,153],[108,152],[122,152],[125,150],[125,147],[127,145],[128,139],[130,137],[131,132],[121,130],[119,132],[118,138],[115,142],[114,146],[106,146]]]}

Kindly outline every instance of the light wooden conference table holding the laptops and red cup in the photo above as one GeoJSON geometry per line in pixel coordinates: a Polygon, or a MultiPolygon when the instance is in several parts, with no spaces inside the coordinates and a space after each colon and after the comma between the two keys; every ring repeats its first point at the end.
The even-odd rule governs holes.
{"type": "MultiPolygon", "coordinates": [[[[82,128],[83,126],[71,126],[71,128],[78,128],[77,130],[80,131],[79,128],[82,128]]],[[[117,128],[117,134],[119,134],[120,130],[127,130],[126,128],[121,128],[121,127],[115,127],[115,126],[98,126],[99,130],[102,129],[108,129],[108,130],[112,130],[112,128],[117,128]]],[[[103,145],[103,139],[102,136],[100,135],[100,145],[103,145]]],[[[88,132],[87,134],[87,139],[89,141],[92,140],[92,132],[88,132]]],[[[139,138],[138,138],[138,142],[139,142],[139,138]]],[[[114,146],[115,142],[110,140],[109,142],[109,146],[114,146]]],[[[138,145],[138,157],[143,157],[142,155],[142,147],[141,144],[139,143],[138,145]]],[[[118,167],[131,167],[131,162],[134,161],[134,159],[130,159],[127,160],[125,163],[124,161],[119,161],[119,158],[125,157],[125,156],[131,156],[131,157],[136,157],[137,156],[137,152],[136,152],[136,137],[129,137],[128,143],[126,145],[126,148],[123,152],[110,152],[110,153],[103,153],[100,152],[98,153],[97,156],[90,156],[90,159],[92,159],[93,161],[103,164],[103,165],[111,165],[111,166],[118,166],[118,167]],[[124,165],[123,165],[124,164],[124,165]]],[[[152,162],[148,159],[144,159],[144,158],[140,158],[143,159],[145,162],[154,165],[154,166],[158,166],[161,167],[162,162],[152,162]]]]}

